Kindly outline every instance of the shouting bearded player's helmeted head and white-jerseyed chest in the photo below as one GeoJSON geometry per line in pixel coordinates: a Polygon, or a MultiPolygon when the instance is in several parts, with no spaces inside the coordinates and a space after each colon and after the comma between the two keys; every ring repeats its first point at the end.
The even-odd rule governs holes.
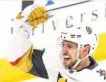
{"type": "Polygon", "coordinates": [[[97,63],[91,54],[95,51],[98,37],[88,26],[64,28],[58,40],[59,75],[62,82],[105,82],[106,61],[97,63]],[[62,78],[63,77],[63,78],[62,78]]]}

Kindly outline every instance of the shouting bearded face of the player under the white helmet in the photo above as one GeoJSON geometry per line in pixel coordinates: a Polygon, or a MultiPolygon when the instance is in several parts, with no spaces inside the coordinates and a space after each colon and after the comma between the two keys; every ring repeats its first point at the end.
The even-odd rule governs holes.
{"type": "Polygon", "coordinates": [[[66,67],[71,67],[77,61],[77,47],[78,45],[71,41],[63,41],[62,55],[63,64],[66,67]]]}

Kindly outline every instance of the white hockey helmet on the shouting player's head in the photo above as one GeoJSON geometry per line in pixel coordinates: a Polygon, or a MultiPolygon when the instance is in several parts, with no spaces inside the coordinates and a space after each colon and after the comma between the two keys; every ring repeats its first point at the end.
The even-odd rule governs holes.
{"type": "Polygon", "coordinates": [[[91,46],[90,54],[93,53],[97,46],[97,35],[92,33],[92,29],[88,26],[79,28],[65,28],[61,31],[60,40],[72,41],[78,44],[78,48],[89,44],[91,46]]]}

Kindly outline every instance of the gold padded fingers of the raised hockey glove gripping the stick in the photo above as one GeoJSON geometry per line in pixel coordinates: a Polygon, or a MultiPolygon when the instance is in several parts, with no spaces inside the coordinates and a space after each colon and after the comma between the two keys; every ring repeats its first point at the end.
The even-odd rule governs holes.
{"type": "Polygon", "coordinates": [[[35,8],[28,16],[29,23],[36,27],[40,23],[44,23],[47,20],[47,12],[44,7],[35,8]]]}

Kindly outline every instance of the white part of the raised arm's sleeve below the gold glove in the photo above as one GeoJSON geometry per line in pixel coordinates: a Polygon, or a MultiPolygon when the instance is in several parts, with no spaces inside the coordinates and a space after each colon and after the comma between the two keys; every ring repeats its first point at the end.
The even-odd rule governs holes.
{"type": "Polygon", "coordinates": [[[30,8],[31,6],[28,6],[24,9],[22,19],[18,20],[14,18],[12,20],[13,33],[10,35],[5,53],[5,58],[10,62],[22,57],[31,46],[30,34],[33,26],[26,21],[30,8]]]}

